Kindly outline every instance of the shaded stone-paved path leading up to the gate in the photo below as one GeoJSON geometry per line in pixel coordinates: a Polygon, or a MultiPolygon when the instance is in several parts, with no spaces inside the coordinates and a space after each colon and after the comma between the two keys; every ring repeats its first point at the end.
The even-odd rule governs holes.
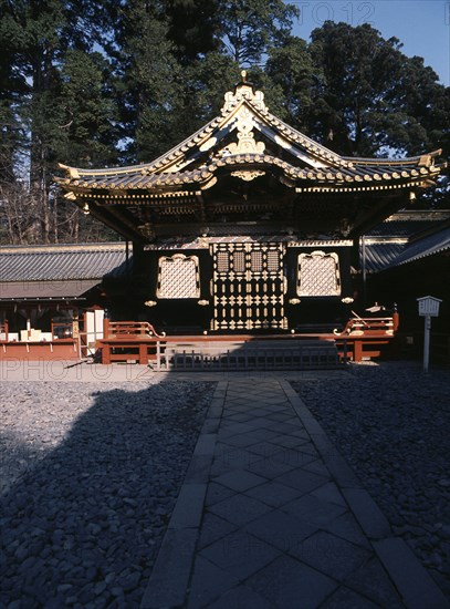
{"type": "Polygon", "coordinates": [[[448,607],[281,378],[220,381],[143,608],[448,607]]]}

